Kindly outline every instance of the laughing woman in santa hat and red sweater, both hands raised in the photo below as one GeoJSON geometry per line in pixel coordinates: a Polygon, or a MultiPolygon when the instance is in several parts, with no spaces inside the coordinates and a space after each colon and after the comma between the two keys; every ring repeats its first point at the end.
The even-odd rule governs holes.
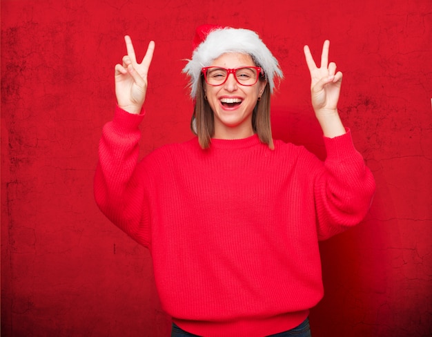
{"type": "Polygon", "coordinates": [[[117,108],[104,126],[95,175],[101,211],[150,249],[172,336],[311,336],[323,296],[318,240],[364,218],[375,182],[337,113],[342,73],[305,46],[327,157],[273,140],[277,60],[251,30],[201,26],[184,72],[197,135],[141,162],[147,73],[132,41],[115,66],[117,108]]]}

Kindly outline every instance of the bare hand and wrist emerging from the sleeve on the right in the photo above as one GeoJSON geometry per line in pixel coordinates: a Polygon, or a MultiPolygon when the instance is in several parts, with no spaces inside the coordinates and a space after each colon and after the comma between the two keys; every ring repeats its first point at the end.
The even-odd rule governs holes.
{"type": "Polygon", "coordinates": [[[315,64],[308,46],[304,46],[304,56],[311,73],[311,99],[315,116],[320,122],[324,136],[333,138],[343,135],[345,128],[337,112],[342,73],[336,73],[334,62],[328,63],[329,46],[330,41],[324,41],[320,68],[315,64]]]}

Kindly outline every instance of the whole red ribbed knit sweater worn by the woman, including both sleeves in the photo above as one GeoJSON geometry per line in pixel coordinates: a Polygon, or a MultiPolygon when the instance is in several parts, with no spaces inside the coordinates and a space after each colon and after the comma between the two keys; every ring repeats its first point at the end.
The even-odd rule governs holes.
{"type": "Polygon", "coordinates": [[[323,163],[256,135],[197,139],[138,162],[143,115],[117,108],[104,126],[95,198],[150,249],[161,303],[200,336],[291,329],[323,296],[318,240],[364,218],[375,182],[350,132],[324,138],[323,163]]]}

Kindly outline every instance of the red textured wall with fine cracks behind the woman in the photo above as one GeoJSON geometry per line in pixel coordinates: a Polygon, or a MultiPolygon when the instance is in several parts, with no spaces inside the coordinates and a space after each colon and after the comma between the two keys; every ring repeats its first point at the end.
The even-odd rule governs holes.
{"type": "Polygon", "coordinates": [[[259,32],[285,79],[275,137],[322,156],[302,47],[344,72],[340,111],[373,170],[366,220],[321,244],[313,336],[430,336],[430,0],[1,1],[1,336],[168,336],[150,255],[92,195],[114,65],[156,51],[142,154],[191,137],[181,74],[195,26],[259,32]]]}

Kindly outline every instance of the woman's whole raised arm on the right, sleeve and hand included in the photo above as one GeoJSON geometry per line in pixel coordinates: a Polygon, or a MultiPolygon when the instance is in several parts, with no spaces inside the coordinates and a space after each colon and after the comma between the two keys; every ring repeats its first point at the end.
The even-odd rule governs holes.
{"type": "Polygon", "coordinates": [[[304,46],[311,73],[311,98],[315,116],[324,132],[327,157],[322,174],[314,184],[318,237],[330,238],[359,223],[366,215],[375,193],[375,180],[355,150],[351,135],[345,135],[337,112],[342,73],[336,64],[328,63],[330,42],[324,41],[318,68],[308,46],[304,46]]]}

